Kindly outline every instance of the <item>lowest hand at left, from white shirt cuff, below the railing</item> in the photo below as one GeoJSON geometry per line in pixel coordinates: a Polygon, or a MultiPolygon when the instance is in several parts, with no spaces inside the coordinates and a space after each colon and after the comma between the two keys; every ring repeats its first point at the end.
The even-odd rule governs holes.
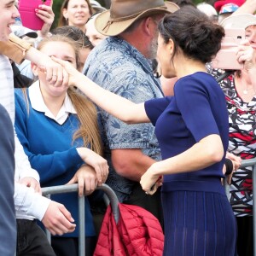
{"type": "Polygon", "coordinates": [[[65,233],[71,233],[76,227],[66,207],[55,201],[50,201],[42,222],[52,235],[61,236],[65,233]]]}

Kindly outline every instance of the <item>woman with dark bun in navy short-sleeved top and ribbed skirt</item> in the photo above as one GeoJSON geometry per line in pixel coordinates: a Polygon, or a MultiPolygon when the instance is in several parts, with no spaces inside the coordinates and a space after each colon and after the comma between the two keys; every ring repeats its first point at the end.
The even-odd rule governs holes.
{"type": "Polygon", "coordinates": [[[188,7],[166,15],[159,31],[162,73],[178,78],[174,96],[134,104],[58,62],[70,74],[70,84],[101,108],[127,123],[155,125],[163,160],[148,168],[141,184],[148,194],[162,185],[164,255],[234,256],[236,221],[221,184],[228,113],[224,93],[205,67],[218,52],[224,30],[188,7]]]}

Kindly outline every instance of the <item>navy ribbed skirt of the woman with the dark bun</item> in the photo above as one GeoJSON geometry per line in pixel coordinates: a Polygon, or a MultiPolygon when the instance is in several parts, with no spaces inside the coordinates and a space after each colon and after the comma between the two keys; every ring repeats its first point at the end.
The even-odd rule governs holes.
{"type": "Polygon", "coordinates": [[[236,218],[225,195],[162,192],[165,256],[236,255],[236,218]]]}

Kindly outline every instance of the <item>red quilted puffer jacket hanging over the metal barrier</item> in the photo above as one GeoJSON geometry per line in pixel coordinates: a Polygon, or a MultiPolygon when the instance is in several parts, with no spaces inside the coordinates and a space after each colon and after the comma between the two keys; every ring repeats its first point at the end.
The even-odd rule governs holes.
{"type": "Polygon", "coordinates": [[[164,235],[153,214],[142,207],[119,204],[115,223],[108,206],[94,256],[162,256],[164,235]]]}

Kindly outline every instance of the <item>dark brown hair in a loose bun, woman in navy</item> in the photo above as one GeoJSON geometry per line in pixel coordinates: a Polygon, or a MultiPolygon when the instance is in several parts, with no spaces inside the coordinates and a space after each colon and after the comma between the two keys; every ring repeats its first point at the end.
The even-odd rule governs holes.
{"type": "Polygon", "coordinates": [[[166,15],[160,21],[159,31],[166,44],[171,38],[174,42],[174,55],[178,48],[187,57],[210,62],[217,54],[224,37],[224,28],[213,24],[207,15],[190,6],[166,15]]]}

